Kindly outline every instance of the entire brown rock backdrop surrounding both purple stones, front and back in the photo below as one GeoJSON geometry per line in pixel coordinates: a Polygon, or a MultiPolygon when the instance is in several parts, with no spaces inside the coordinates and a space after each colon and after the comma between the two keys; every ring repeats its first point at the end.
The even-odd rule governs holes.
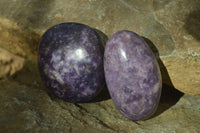
{"type": "Polygon", "coordinates": [[[199,98],[199,0],[0,1],[0,132],[198,133],[199,98]],[[152,118],[126,119],[106,89],[84,104],[47,93],[37,69],[38,45],[48,28],[63,22],[87,24],[104,41],[123,29],[145,39],[164,83],[152,118]]]}

